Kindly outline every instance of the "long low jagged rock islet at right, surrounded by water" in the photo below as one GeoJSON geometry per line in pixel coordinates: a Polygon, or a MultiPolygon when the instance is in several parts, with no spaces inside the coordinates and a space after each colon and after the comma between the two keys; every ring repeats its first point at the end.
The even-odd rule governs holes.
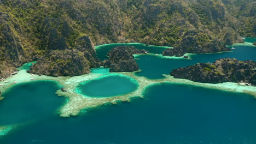
{"type": "Polygon", "coordinates": [[[178,79],[204,83],[247,82],[256,85],[256,62],[221,58],[214,63],[197,63],[171,71],[178,79]]]}

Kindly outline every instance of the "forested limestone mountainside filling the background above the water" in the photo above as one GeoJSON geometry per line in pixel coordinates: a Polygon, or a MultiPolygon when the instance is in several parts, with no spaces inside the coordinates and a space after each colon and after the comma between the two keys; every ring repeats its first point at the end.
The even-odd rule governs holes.
{"type": "MultiPolygon", "coordinates": [[[[239,35],[256,37],[255,2],[2,0],[0,77],[22,63],[45,58],[49,51],[76,49],[76,41],[84,35],[92,45],[138,42],[181,49],[191,32],[196,35],[191,42],[202,49],[207,49],[203,43],[230,45],[240,42],[239,35]]],[[[187,46],[192,48],[184,52],[196,51],[187,46]]]]}

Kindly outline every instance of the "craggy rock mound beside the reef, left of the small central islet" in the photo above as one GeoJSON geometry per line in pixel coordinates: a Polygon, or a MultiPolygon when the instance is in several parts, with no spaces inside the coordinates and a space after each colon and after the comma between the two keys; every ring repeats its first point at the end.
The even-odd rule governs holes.
{"type": "MultiPolygon", "coordinates": [[[[63,42],[63,40],[61,40],[63,42]]],[[[66,43],[59,43],[67,45],[66,43]]],[[[55,45],[54,45],[55,47],[55,45]]],[[[96,57],[96,52],[88,37],[84,36],[77,40],[72,49],[54,50],[40,58],[32,65],[29,73],[49,76],[77,76],[90,73],[90,68],[100,67],[100,59],[96,57]]]]}

